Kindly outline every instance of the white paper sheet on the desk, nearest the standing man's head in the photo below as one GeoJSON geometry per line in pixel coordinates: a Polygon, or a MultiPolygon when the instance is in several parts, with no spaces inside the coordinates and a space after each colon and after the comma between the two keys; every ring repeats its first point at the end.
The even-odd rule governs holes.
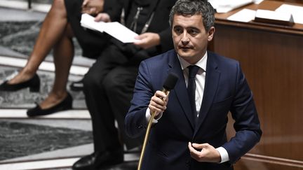
{"type": "Polygon", "coordinates": [[[227,20],[233,20],[238,22],[250,22],[255,18],[255,13],[255,10],[244,8],[243,10],[238,11],[238,13],[234,13],[234,15],[227,17],[227,20]]]}

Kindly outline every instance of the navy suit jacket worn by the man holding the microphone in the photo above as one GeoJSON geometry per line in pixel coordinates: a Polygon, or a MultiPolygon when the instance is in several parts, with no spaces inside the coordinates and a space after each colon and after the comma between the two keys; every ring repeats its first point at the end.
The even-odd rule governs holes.
{"type": "Polygon", "coordinates": [[[134,96],[126,115],[126,132],[138,136],[145,132],[145,113],[149,101],[161,90],[170,72],[179,76],[170,91],[166,111],[151,129],[142,169],[232,169],[260,141],[262,131],[253,94],[239,63],[234,59],[208,52],[206,84],[198,122],[194,123],[187,87],[175,50],[144,60],[140,64],[134,96]],[[227,141],[227,114],[235,120],[236,136],[227,141]],[[229,162],[197,162],[189,155],[188,142],[209,143],[224,147],[229,162]]]}

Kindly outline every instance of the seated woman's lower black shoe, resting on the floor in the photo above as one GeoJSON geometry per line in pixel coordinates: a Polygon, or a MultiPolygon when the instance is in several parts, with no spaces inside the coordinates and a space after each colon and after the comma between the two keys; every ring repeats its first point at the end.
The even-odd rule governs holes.
{"type": "Polygon", "coordinates": [[[72,95],[67,92],[67,97],[65,97],[65,99],[63,99],[59,104],[46,109],[42,109],[39,104],[36,104],[36,107],[29,108],[29,110],[27,110],[27,116],[34,117],[38,115],[50,115],[58,111],[72,109],[72,100],[72,95]]]}

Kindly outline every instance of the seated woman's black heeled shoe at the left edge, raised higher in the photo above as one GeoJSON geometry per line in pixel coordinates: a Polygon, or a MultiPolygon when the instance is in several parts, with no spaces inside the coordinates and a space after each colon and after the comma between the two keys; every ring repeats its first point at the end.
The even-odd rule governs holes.
{"type": "Polygon", "coordinates": [[[8,81],[5,81],[0,85],[0,91],[15,92],[17,90],[29,87],[30,92],[39,92],[40,90],[40,78],[37,74],[34,75],[31,79],[18,84],[8,84],[8,81]]]}

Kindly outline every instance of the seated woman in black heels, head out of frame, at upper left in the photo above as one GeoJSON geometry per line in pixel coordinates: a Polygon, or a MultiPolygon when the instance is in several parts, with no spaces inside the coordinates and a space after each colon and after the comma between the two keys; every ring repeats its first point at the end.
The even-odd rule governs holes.
{"type": "MultiPolygon", "coordinates": [[[[54,0],[42,24],[39,36],[27,64],[17,76],[0,85],[0,91],[14,92],[29,87],[30,92],[39,92],[40,79],[36,74],[39,65],[53,49],[55,80],[48,97],[27,111],[28,116],[48,115],[72,108],[72,96],[67,92],[69,69],[74,57],[73,36],[76,36],[83,56],[96,57],[106,42],[102,35],[92,34],[80,25],[81,13],[96,15],[103,10],[104,0],[54,0]],[[82,8],[74,8],[81,3],[82,8]],[[97,36],[96,36],[97,35],[97,36]]],[[[98,15],[99,16],[99,15],[98,15]]],[[[96,20],[109,21],[103,13],[96,20]]]]}

